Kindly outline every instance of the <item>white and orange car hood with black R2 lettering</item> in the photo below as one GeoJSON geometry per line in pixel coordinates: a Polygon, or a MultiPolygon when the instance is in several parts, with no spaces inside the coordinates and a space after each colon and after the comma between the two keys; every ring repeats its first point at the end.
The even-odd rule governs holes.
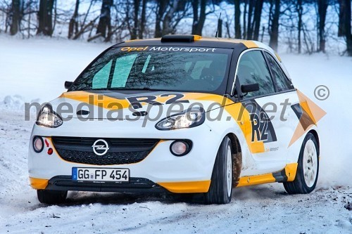
{"type": "Polygon", "coordinates": [[[51,101],[63,118],[82,119],[163,119],[188,108],[201,106],[210,111],[233,104],[213,93],[170,91],[70,91],[51,101]]]}

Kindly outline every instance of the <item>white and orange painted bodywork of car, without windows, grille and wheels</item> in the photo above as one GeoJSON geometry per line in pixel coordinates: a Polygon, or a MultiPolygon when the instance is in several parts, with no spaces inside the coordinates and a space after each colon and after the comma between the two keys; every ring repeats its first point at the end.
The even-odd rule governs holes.
{"type": "MultiPolygon", "coordinates": [[[[289,78],[287,70],[276,53],[258,41],[203,40],[208,41],[208,43],[214,41],[214,44],[221,40],[225,43],[245,45],[246,49],[239,53],[237,60],[240,60],[243,54],[253,50],[270,53],[289,78]]],[[[199,41],[202,41],[202,39],[199,39],[199,41]]],[[[144,43],[149,42],[151,43],[153,40],[144,41],[144,43]]],[[[127,41],[120,46],[122,48],[134,48],[135,44],[138,44],[138,41],[127,41]]],[[[187,43],[184,46],[187,46],[187,43]]],[[[216,47],[216,44],[214,47],[216,47]]],[[[232,69],[234,68],[236,70],[234,77],[236,77],[238,65],[232,69]]],[[[236,84],[236,82],[236,79],[234,79],[233,84],[236,84]]],[[[241,171],[237,175],[236,181],[234,181],[234,187],[275,181],[294,181],[298,156],[306,134],[308,132],[312,133],[319,141],[317,122],[320,115],[316,117],[316,107],[313,102],[296,89],[248,100],[244,98],[241,101],[234,101],[229,95],[221,96],[215,93],[139,91],[137,94],[115,94],[109,91],[69,91],[50,102],[53,110],[57,110],[62,103],[67,103],[73,107],[73,114],[61,114],[62,118],[71,115],[69,121],[64,121],[61,126],[56,128],[34,124],[32,130],[29,149],[29,176],[32,187],[37,190],[117,192],[161,190],[172,193],[206,193],[210,187],[215,158],[225,136],[230,136],[233,141],[236,141],[233,143],[239,144],[240,149],[240,152],[236,153],[237,157],[240,157],[238,163],[240,163],[241,171]],[[89,102],[89,96],[94,98],[93,102],[89,102]],[[143,102],[141,102],[142,108],[131,108],[132,103],[128,98],[134,96],[154,96],[154,100],[161,103],[163,108],[160,108],[161,105],[150,105],[143,102]],[[194,103],[201,103],[203,109],[210,110],[206,112],[208,117],[203,124],[193,128],[168,131],[157,129],[156,123],[170,116],[168,110],[171,105],[175,107],[172,110],[177,110],[177,104],[167,104],[168,100],[176,97],[179,101],[187,100],[187,103],[182,103],[183,110],[187,110],[194,103]],[[283,108],[282,103],[285,103],[285,101],[289,105],[286,106],[285,110],[280,110],[280,108],[283,108]],[[107,106],[111,102],[120,103],[121,107],[118,111],[123,112],[122,117],[116,118],[115,121],[106,118],[108,112],[114,110],[107,106]],[[84,108],[80,106],[82,103],[84,108]],[[251,105],[257,104],[260,108],[258,110],[260,115],[261,108],[267,103],[275,103],[278,110],[270,113],[273,118],[269,122],[265,122],[268,126],[264,126],[258,132],[253,131],[254,125],[253,119],[251,119],[253,113],[246,106],[251,107],[251,105]],[[211,106],[213,108],[210,108],[211,106]],[[302,125],[302,119],[298,117],[291,106],[300,106],[301,110],[306,112],[311,120],[308,126],[302,125]],[[84,119],[85,121],[82,121],[82,116],[76,113],[77,110],[87,110],[94,114],[89,117],[89,120],[84,119]],[[149,118],[153,120],[139,117],[139,119],[132,121],[136,118],[133,115],[136,110],[139,113],[148,112],[149,118]],[[218,117],[218,119],[211,120],[215,117],[218,117]],[[286,120],[283,121],[282,118],[286,120]],[[253,136],[253,134],[256,134],[256,136],[253,136]],[[44,150],[41,152],[35,152],[33,148],[32,143],[36,136],[42,137],[44,141],[44,150]],[[56,149],[53,140],[53,138],[58,137],[93,138],[94,141],[99,139],[109,141],[112,138],[156,139],[157,143],[148,155],[139,162],[98,165],[64,160],[56,149]],[[263,137],[266,140],[262,140],[263,137]],[[271,141],[268,140],[268,137],[271,138],[271,141]],[[187,155],[177,157],[170,152],[170,145],[177,139],[191,141],[191,150],[187,155]],[[87,167],[94,169],[129,169],[129,178],[130,180],[135,179],[135,184],[129,186],[128,183],[110,183],[109,181],[73,181],[71,178],[73,168],[87,167]],[[148,186],[145,187],[145,184],[144,187],[138,186],[138,181],[143,182],[143,180],[147,181],[148,186]]],[[[177,111],[172,114],[175,113],[177,111]]],[[[254,124],[259,123],[255,122],[254,124]]]]}

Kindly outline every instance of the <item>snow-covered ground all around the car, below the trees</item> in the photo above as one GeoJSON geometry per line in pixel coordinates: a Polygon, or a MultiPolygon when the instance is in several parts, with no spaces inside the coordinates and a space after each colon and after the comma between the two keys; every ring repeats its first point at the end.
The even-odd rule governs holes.
{"type": "Polygon", "coordinates": [[[108,44],[0,37],[0,233],[352,233],[350,118],[352,58],[282,55],[294,84],[323,108],[320,178],[309,195],[281,184],[234,189],[227,205],[189,197],[70,193],[68,204],[39,204],[27,179],[23,103],[56,98],[108,44]],[[317,100],[318,85],[329,87],[317,100]]]}

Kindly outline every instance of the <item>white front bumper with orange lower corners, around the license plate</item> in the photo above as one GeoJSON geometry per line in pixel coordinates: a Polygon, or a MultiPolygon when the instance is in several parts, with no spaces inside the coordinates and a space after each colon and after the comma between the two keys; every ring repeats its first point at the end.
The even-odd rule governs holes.
{"type": "MultiPolygon", "coordinates": [[[[72,125],[73,123],[70,123],[72,125]]],[[[77,123],[82,124],[82,123],[77,123]]],[[[217,131],[202,124],[193,129],[158,131],[146,126],[135,129],[130,122],[99,123],[85,122],[80,131],[68,131],[64,127],[48,129],[34,125],[32,138],[42,136],[46,145],[42,152],[34,152],[32,138],[29,150],[29,174],[32,188],[50,190],[84,190],[106,192],[165,192],[206,193],[210,186],[216,153],[222,140],[217,131]],[[112,125],[114,124],[114,126],[112,125]],[[111,125],[111,126],[109,126],[111,125]],[[118,126],[116,126],[118,125],[118,126]],[[130,125],[130,126],[129,126],[130,125]],[[90,131],[88,132],[87,129],[90,131]],[[116,131],[119,129],[120,131],[116,131]],[[132,131],[134,129],[134,131],[132,131]],[[103,131],[102,131],[103,130],[103,131]],[[67,162],[56,151],[51,136],[80,136],[95,138],[158,138],[161,141],[149,155],[133,164],[93,165],[67,162]],[[99,133],[99,134],[98,134],[99,133]],[[149,137],[148,137],[149,136],[149,137]],[[157,137],[156,137],[157,136],[157,137]],[[182,157],[170,152],[170,145],[177,139],[189,139],[193,143],[191,151],[182,157]],[[49,155],[49,148],[53,149],[49,155]],[[71,179],[73,167],[127,168],[130,169],[130,183],[77,182],[71,179]],[[34,183],[35,182],[35,183],[34,183]],[[45,186],[46,184],[46,186],[45,186]]],[[[135,124],[135,123],[134,123],[135,124]]],[[[63,125],[64,126],[64,125],[63,125]]]]}

